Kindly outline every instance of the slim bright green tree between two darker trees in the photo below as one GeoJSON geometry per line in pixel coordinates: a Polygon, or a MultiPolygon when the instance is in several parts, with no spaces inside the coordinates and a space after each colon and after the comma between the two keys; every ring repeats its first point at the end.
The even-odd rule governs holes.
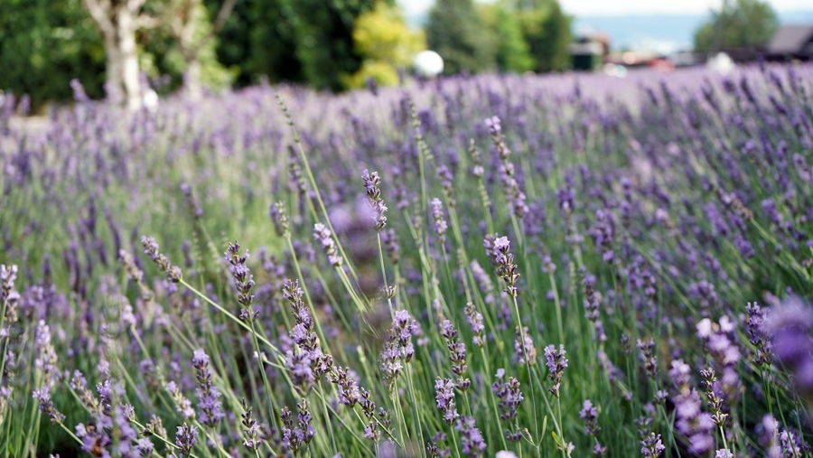
{"type": "Polygon", "coordinates": [[[482,4],[478,7],[483,23],[493,31],[497,40],[496,61],[502,71],[534,70],[534,58],[522,34],[516,11],[502,4],[482,4]]]}

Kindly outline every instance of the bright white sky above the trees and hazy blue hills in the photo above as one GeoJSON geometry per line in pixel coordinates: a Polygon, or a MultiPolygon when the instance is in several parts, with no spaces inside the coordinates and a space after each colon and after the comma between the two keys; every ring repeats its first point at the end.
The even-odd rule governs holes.
{"type": "MultiPolygon", "coordinates": [[[[398,0],[407,15],[422,14],[435,0],[398,0]]],[[[772,0],[777,11],[808,10],[810,0],[772,0]]],[[[722,0],[559,0],[569,14],[701,14],[719,8],[722,0]]]]}

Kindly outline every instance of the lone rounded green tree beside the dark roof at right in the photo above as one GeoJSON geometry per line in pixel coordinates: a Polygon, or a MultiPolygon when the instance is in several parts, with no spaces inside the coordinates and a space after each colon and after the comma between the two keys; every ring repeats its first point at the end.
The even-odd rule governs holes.
{"type": "Polygon", "coordinates": [[[779,19],[768,2],[725,1],[723,8],[695,33],[695,51],[721,48],[750,48],[771,41],[779,19]]]}

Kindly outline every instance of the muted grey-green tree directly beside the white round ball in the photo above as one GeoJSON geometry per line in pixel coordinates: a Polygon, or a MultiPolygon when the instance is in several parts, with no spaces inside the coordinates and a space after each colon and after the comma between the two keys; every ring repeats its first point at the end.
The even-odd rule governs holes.
{"type": "Polygon", "coordinates": [[[436,2],[425,31],[429,49],[444,58],[444,73],[496,67],[496,37],[482,23],[472,0],[436,2]]]}

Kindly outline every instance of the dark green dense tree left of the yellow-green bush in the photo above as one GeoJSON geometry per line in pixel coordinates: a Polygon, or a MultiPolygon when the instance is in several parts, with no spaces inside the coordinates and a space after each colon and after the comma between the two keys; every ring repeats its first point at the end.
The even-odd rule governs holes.
{"type": "MultiPolygon", "coordinates": [[[[218,0],[204,0],[210,7],[218,0]]],[[[222,0],[220,0],[222,1],[222,0]]],[[[252,0],[238,2],[218,34],[218,59],[237,68],[238,85],[292,81],[343,89],[363,56],[353,30],[375,0],[252,0]]],[[[387,0],[393,5],[393,0],[387,0]]]]}

